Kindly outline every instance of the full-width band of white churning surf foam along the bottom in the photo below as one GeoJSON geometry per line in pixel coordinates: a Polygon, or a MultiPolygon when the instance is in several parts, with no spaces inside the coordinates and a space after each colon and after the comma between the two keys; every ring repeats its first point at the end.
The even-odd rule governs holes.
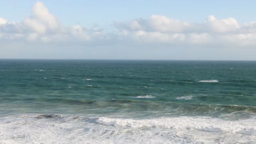
{"type": "Polygon", "coordinates": [[[0,137],[0,143],[254,143],[256,122],[25,115],[0,117],[0,137]]]}

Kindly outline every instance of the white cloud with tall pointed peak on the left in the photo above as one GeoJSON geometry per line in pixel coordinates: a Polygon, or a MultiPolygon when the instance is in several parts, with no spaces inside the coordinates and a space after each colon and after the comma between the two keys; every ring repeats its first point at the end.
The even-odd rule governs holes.
{"type": "Polygon", "coordinates": [[[7,22],[0,17],[0,40],[21,40],[24,43],[61,43],[90,41],[102,37],[100,28],[64,27],[42,2],[32,5],[31,16],[21,23],[7,22]]]}

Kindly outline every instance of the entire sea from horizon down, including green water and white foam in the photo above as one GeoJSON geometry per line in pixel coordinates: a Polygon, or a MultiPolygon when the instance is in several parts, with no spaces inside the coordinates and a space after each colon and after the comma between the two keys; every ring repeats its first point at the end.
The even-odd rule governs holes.
{"type": "Polygon", "coordinates": [[[0,143],[256,143],[256,61],[0,59],[0,143]]]}

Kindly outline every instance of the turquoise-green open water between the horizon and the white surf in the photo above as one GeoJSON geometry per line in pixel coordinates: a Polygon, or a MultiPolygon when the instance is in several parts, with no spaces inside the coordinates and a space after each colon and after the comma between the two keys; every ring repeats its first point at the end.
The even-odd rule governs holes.
{"type": "Polygon", "coordinates": [[[1,60],[0,65],[1,113],[256,112],[256,62],[1,60]]]}

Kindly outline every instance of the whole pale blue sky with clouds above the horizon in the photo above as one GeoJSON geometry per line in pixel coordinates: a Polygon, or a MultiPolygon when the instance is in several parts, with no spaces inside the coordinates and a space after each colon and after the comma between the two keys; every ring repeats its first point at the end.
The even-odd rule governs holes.
{"type": "Polygon", "coordinates": [[[2,1],[0,58],[256,60],[256,1],[2,1]]]}

